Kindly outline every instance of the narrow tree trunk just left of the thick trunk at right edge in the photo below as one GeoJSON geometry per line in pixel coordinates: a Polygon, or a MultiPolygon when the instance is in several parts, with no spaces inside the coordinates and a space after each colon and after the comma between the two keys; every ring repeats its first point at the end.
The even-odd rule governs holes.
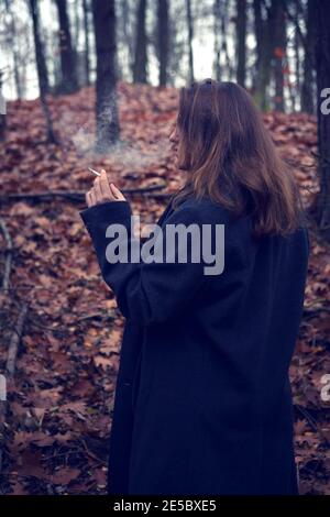
{"type": "Polygon", "coordinates": [[[308,0],[306,12],[306,48],[304,58],[304,79],[301,86],[301,111],[314,113],[314,70],[315,70],[315,1],[308,0]]]}

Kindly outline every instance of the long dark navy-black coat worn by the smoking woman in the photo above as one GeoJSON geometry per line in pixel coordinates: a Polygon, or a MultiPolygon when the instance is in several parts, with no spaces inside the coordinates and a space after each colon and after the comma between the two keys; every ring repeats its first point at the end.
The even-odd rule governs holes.
{"type": "Polygon", "coordinates": [[[308,233],[251,237],[204,198],[158,223],[224,224],[224,271],[110,264],[106,229],[128,201],[80,216],[127,318],[110,438],[111,494],[295,494],[288,367],[302,311],[308,233]]]}

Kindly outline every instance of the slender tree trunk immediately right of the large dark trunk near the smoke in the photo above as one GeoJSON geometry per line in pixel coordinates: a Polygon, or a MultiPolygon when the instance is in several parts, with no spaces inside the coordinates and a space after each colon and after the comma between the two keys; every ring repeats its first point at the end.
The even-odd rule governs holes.
{"type": "Polygon", "coordinates": [[[140,0],[136,13],[135,58],[133,66],[133,81],[147,82],[146,79],[146,31],[145,31],[146,0],[140,0]]]}

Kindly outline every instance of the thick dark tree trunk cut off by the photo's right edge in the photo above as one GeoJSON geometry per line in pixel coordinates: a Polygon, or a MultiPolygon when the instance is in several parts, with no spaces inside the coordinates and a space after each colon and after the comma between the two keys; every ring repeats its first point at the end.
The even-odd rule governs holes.
{"type": "Polygon", "coordinates": [[[318,146],[320,193],[317,219],[324,238],[330,242],[330,16],[328,3],[314,1],[316,13],[316,70],[318,91],[318,146]]]}

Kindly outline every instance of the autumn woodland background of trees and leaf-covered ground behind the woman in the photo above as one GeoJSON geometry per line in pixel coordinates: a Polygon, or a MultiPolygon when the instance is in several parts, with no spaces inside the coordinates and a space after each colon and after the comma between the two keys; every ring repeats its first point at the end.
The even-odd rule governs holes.
{"type": "Polygon", "coordinates": [[[154,222],[182,180],[178,88],[213,77],[252,94],[301,187],[296,461],[329,495],[330,2],[0,0],[0,494],[106,493],[123,318],[78,215],[87,167],[154,222]]]}

